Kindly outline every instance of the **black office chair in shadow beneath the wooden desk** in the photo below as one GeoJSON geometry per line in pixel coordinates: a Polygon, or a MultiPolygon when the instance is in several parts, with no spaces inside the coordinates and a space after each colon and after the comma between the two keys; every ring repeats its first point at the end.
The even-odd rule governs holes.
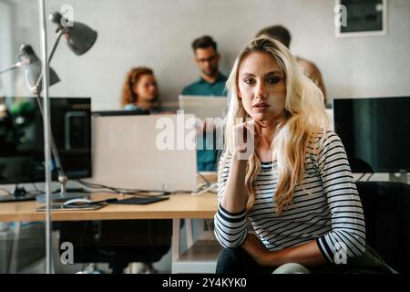
{"type": "Polygon", "coordinates": [[[129,263],[155,263],[169,251],[172,220],[59,222],[60,245],[74,245],[75,263],[108,263],[121,274],[129,263]]]}

